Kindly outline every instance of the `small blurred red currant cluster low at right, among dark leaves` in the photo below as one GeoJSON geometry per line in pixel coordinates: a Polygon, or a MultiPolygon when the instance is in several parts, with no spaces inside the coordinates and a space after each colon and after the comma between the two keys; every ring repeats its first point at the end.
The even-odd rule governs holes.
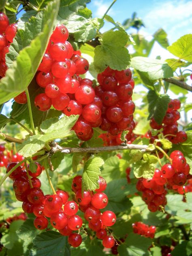
{"type": "Polygon", "coordinates": [[[133,232],[144,237],[154,238],[156,226],[148,226],[143,222],[135,222],[132,224],[133,232]]]}

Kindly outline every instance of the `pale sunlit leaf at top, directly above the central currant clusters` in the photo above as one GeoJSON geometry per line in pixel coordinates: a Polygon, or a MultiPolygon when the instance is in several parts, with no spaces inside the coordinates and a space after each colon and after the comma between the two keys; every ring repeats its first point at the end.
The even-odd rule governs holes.
{"type": "Polygon", "coordinates": [[[86,19],[75,14],[70,16],[67,23],[65,24],[68,31],[74,34],[75,41],[87,42],[96,36],[97,30],[102,28],[104,22],[103,19],[86,19]]]}

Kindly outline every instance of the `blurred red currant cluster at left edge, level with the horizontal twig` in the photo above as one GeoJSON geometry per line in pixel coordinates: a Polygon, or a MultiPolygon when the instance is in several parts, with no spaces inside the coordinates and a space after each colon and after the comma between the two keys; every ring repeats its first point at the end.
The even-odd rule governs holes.
{"type": "Polygon", "coordinates": [[[6,150],[4,145],[0,145],[0,167],[7,167],[11,162],[20,162],[24,158],[19,153],[13,154],[13,150],[6,150]]]}

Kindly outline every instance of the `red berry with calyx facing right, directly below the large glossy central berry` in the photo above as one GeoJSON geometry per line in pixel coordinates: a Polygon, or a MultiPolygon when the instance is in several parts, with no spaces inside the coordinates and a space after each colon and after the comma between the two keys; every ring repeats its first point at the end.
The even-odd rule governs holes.
{"type": "Polygon", "coordinates": [[[101,116],[101,109],[95,104],[87,104],[83,108],[82,115],[88,122],[96,122],[101,116]]]}

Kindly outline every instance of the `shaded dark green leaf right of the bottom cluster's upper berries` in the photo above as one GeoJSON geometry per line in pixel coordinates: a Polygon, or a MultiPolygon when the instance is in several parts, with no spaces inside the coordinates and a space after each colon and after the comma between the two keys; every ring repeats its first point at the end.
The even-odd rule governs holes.
{"type": "Polygon", "coordinates": [[[126,197],[129,192],[126,178],[115,179],[107,183],[104,193],[108,196],[108,205],[105,207],[105,211],[110,210],[114,211],[114,213],[120,213],[130,210],[132,203],[126,197]]]}

